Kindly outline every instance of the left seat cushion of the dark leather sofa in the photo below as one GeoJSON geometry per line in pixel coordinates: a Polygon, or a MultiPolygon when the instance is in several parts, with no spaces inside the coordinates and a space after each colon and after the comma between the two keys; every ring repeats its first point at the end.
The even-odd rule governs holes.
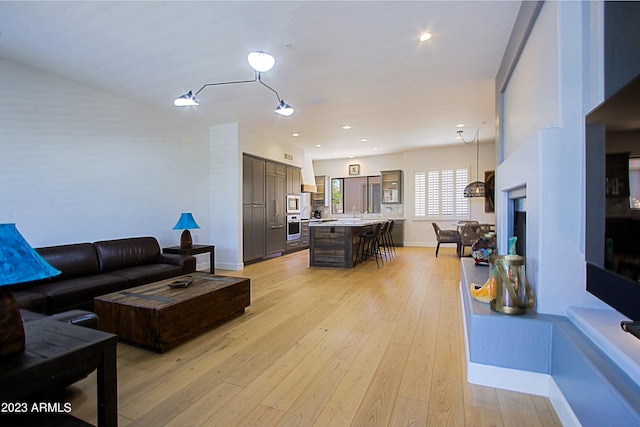
{"type": "Polygon", "coordinates": [[[96,274],[38,285],[30,289],[47,296],[47,314],[60,313],[85,303],[93,307],[93,299],[130,287],[126,277],[114,274],[96,274]]]}

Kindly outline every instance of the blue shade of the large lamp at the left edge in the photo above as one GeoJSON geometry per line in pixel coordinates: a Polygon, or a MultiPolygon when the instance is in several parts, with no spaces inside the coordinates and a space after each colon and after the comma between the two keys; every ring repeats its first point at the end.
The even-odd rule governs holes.
{"type": "Polygon", "coordinates": [[[0,224],[0,286],[47,279],[60,274],[22,237],[15,224],[0,224]]]}

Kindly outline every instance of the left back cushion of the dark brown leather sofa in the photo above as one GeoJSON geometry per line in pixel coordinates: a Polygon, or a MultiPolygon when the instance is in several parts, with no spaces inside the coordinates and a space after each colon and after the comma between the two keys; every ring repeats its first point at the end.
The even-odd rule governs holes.
{"type": "Polygon", "coordinates": [[[91,243],[50,246],[36,251],[49,264],[61,271],[51,280],[66,280],[100,273],[96,250],[91,243]]]}

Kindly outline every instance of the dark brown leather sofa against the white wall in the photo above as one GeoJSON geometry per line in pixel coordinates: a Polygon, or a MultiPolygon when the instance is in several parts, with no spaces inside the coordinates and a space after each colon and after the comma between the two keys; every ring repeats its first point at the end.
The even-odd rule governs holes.
{"type": "Polygon", "coordinates": [[[46,281],[16,285],[11,292],[21,309],[49,315],[76,309],[93,311],[97,296],[196,270],[193,256],[163,254],[155,237],[36,250],[61,274],[46,281]]]}

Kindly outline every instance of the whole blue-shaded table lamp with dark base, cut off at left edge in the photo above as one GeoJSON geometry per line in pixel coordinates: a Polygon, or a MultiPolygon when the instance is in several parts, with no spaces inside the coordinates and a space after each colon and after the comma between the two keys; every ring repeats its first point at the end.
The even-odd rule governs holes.
{"type": "Polygon", "coordinates": [[[22,317],[7,286],[58,274],[29,246],[15,224],[0,224],[0,356],[24,350],[22,317]]]}

